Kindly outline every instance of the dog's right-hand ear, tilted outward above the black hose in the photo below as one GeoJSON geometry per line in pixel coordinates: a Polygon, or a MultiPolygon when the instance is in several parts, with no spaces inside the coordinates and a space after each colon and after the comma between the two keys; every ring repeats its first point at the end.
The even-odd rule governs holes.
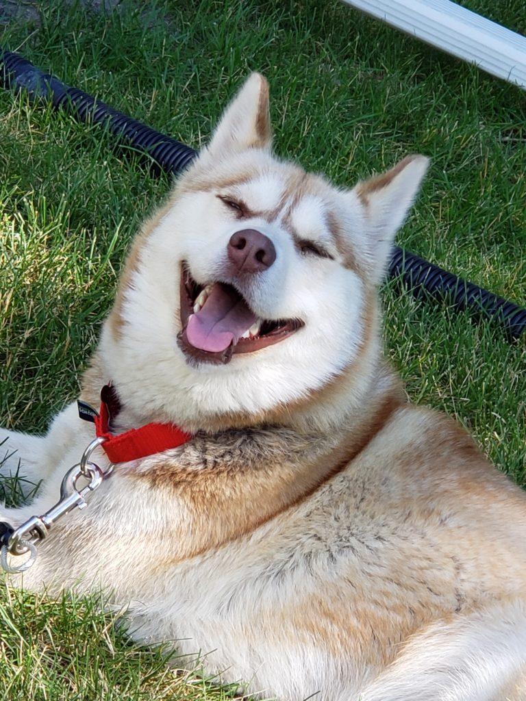
{"type": "Polygon", "coordinates": [[[382,175],[359,182],[352,191],[365,215],[365,247],[376,283],[382,280],[395,234],[417,196],[428,165],[426,156],[406,156],[382,175]]]}

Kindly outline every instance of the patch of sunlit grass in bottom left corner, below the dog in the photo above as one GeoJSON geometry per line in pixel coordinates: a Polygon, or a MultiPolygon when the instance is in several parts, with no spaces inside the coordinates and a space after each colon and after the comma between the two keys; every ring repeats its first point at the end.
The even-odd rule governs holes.
{"type": "Polygon", "coordinates": [[[119,634],[103,601],[49,601],[8,590],[0,601],[2,701],[226,701],[234,687],[177,670],[173,651],[119,634]],[[13,611],[15,615],[13,615],[13,611]],[[169,653],[172,653],[169,661],[169,653]]]}

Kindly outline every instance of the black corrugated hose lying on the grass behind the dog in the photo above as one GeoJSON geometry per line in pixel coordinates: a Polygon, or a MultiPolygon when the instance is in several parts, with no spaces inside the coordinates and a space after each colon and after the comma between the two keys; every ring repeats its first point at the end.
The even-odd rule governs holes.
{"type": "MultiPolygon", "coordinates": [[[[55,76],[43,73],[20,54],[0,49],[0,83],[16,90],[25,89],[33,98],[46,98],[81,121],[104,125],[119,140],[148,154],[162,170],[180,173],[196,157],[194,149],[172,137],[160,134],[137,120],[116,111],[82,90],[70,88],[55,76]]],[[[389,275],[398,278],[416,296],[427,292],[446,298],[458,309],[497,320],[508,339],[518,339],[526,329],[526,309],[497,297],[482,287],[468,283],[414,253],[393,247],[389,275]]]]}

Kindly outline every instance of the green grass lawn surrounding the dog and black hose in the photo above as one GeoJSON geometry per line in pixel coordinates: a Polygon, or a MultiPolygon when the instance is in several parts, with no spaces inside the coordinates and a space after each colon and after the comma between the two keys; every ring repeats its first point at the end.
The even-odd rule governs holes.
{"type": "MultiPolygon", "coordinates": [[[[470,8],[526,31],[522,0],[470,8]]],[[[42,4],[43,5],[43,4],[42,4]]],[[[412,151],[432,167],[400,242],[526,299],[525,97],[333,0],[49,3],[1,45],[193,147],[243,76],[269,77],[279,154],[353,184],[412,151]],[[144,11],[144,7],[148,7],[144,11]]],[[[75,396],[126,247],[168,191],[135,154],[0,92],[0,423],[42,430],[75,396]]],[[[413,400],[444,409],[526,484],[526,343],[443,304],[384,290],[386,348],[413,400]]],[[[0,699],[218,700],[167,672],[93,602],[0,596],[0,699]]],[[[198,678],[197,678],[198,679],[198,678]]]]}

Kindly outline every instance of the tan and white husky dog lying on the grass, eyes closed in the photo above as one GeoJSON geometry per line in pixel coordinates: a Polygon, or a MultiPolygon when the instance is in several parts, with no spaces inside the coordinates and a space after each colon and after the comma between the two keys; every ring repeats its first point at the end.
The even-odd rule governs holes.
{"type": "MultiPolygon", "coordinates": [[[[114,383],[115,433],[193,437],[116,465],[22,585],[103,587],[137,639],[282,701],[526,699],[526,495],[382,358],[377,285],[427,163],[344,190],[279,161],[250,76],[137,236],[82,381],[95,407],[114,383]]],[[[50,508],[93,437],[74,405],[2,431],[4,472],[43,485],[0,519],[50,508]]]]}

